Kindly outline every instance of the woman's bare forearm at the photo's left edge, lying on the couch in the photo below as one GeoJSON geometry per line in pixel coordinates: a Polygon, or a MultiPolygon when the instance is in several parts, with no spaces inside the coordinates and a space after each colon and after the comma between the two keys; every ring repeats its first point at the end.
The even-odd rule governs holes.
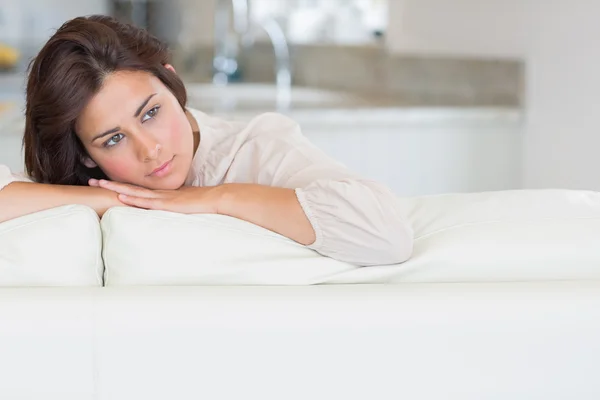
{"type": "Polygon", "coordinates": [[[99,216],[123,205],[115,192],[102,188],[12,182],[0,190],[0,223],[67,204],[89,206],[99,216]]]}

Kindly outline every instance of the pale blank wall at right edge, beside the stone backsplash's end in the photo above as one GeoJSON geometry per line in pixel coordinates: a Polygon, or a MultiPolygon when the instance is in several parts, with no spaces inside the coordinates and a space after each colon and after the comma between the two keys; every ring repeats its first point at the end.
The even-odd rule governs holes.
{"type": "Polygon", "coordinates": [[[530,0],[525,187],[600,190],[599,15],[597,1],[530,0]]]}

